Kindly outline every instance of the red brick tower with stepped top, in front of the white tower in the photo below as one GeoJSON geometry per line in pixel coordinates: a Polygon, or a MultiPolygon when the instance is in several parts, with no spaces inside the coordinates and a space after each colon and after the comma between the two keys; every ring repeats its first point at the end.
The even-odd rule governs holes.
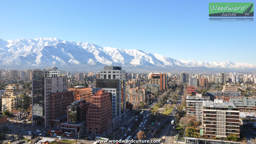
{"type": "Polygon", "coordinates": [[[104,133],[112,123],[110,93],[99,90],[91,98],[91,106],[87,113],[87,132],[104,133]]]}

